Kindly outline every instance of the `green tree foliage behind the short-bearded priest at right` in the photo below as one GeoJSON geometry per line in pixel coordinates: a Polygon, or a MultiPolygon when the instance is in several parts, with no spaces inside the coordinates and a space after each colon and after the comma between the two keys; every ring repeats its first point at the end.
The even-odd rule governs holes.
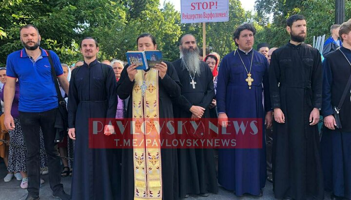
{"type": "MultiPolygon", "coordinates": [[[[273,14],[272,23],[256,35],[256,40],[266,41],[271,47],[288,42],[285,20],[294,14],[305,16],[307,21],[306,43],[313,43],[313,36],[330,36],[335,19],[335,0],[256,0],[255,10],[261,18],[273,14]]],[[[345,20],[351,18],[351,0],[345,1],[345,20]]]]}

